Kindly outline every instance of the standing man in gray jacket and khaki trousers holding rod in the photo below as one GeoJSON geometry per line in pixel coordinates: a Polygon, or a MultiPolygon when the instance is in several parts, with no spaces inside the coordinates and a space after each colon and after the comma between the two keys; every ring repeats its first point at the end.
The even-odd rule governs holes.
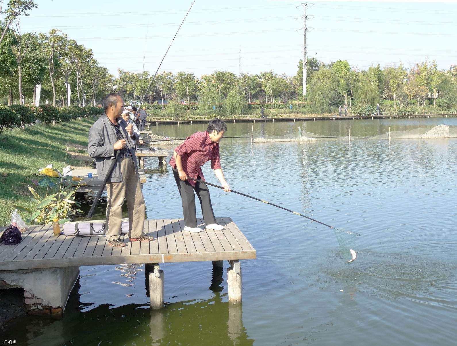
{"type": "Polygon", "coordinates": [[[146,215],[143,192],[138,176],[134,146],[138,141],[133,125],[127,124],[121,115],[124,101],[119,94],[105,98],[105,113],[89,130],[89,156],[95,158],[98,178],[103,180],[120,151],[111,177],[106,183],[106,239],[112,246],[127,246],[121,239],[122,204],[127,199],[128,237],[130,241],[151,241],[153,237],[143,233],[146,215]]]}

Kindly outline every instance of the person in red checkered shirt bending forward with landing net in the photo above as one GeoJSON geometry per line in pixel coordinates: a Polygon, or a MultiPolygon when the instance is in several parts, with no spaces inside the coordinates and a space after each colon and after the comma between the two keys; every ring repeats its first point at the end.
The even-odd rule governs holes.
{"type": "Polygon", "coordinates": [[[224,191],[230,192],[230,186],[225,181],[219,157],[219,141],[226,130],[225,122],[217,118],[213,119],[209,122],[205,132],[197,132],[187,137],[184,143],[176,147],[173,152],[170,165],[173,168],[173,175],[182,199],[185,231],[202,231],[201,228],[197,227],[194,191],[197,193],[202,206],[206,229],[223,229],[223,226],[216,223],[208,186],[205,183],[187,180],[187,177],[205,181],[202,165],[211,160],[211,168],[224,187],[224,191]]]}

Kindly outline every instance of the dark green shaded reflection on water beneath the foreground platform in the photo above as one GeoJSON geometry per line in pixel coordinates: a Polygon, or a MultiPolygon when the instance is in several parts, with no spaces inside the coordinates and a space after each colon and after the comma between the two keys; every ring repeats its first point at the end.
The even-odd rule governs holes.
{"type": "MultiPolygon", "coordinates": [[[[140,266],[117,267],[129,273],[140,266]]],[[[87,276],[84,276],[87,277],[87,276]]],[[[136,279],[136,277],[134,277],[136,279]]],[[[151,310],[149,303],[121,306],[82,303],[80,280],[70,294],[64,317],[40,316],[15,321],[14,331],[3,330],[3,338],[24,345],[252,345],[242,321],[242,304],[224,302],[220,293],[222,268],[213,270],[211,298],[167,303],[151,310]],[[28,342],[27,342],[28,340],[28,342]]],[[[149,285],[147,285],[148,287],[149,285]]],[[[210,287],[210,288],[211,288],[210,287]]],[[[103,294],[103,292],[100,292],[103,294]]]]}

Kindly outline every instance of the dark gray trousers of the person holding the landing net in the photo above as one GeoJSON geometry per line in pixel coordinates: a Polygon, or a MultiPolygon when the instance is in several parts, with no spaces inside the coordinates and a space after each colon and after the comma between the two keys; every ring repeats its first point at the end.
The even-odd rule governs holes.
{"type": "MultiPolygon", "coordinates": [[[[195,209],[194,191],[200,200],[200,206],[202,207],[203,220],[205,221],[205,224],[215,224],[216,218],[214,217],[208,186],[205,183],[196,181],[194,187],[189,183],[188,180],[182,181],[179,179],[177,170],[173,170],[173,176],[175,176],[176,185],[178,186],[179,194],[181,195],[184,224],[187,227],[197,227],[197,211],[195,209]]],[[[197,179],[200,179],[200,176],[197,176],[197,179]]]]}

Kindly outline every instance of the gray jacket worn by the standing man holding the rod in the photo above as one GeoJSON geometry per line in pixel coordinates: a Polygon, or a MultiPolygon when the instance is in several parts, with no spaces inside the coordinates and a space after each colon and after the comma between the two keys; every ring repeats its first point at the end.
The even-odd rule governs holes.
{"type": "MultiPolygon", "coordinates": [[[[117,118],[117,120],[121,120],[119,123],[119,130],[124,138],[127,137],[127,147],[132,154],[131,159],[135,166],[135,172],[138,174],[138,164],[135,157],[135,144],[138,141],[138,136],[134,133],[135,138],[132,139],[125,130],[127,122],[125,122],[122,117],[117,118]]],[[[114,154],[114,144],[116,142],[116,131],[106,114],[103,113],[89,129],[89,156],[95,159],[99,179],[105,179],[106,172],[111,166],[112,160],[116,158],[114,154]]],[[[123,181],[120,165],[116,164],[114,166],[111,178],[108,179],[108,181],[123,181]]]]}

